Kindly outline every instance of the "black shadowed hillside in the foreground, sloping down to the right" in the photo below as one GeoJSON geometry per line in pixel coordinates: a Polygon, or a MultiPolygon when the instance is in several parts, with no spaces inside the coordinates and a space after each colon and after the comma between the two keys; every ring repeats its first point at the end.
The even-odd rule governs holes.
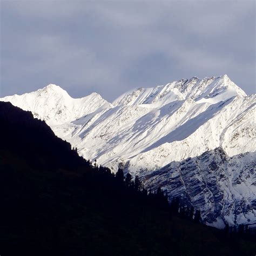
{"type": "MultiPolygon", "coordinates": [[[[1,255],[254,255],[253,235],[170,212],[92,166],[41,120],[0,102],[1,255]]],[[[133,184],[133,185],[131,185],[133,184]]]]}

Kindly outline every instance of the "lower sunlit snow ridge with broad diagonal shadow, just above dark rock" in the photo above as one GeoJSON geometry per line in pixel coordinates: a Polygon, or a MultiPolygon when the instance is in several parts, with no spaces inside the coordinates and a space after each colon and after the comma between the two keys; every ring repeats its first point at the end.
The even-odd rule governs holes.
{"type": "Polygon", "coordinates": [[[205,111],[192,118],[187,118],[193,113],[188,110],[183,124],[126,161],[126,165],[132,172],[137,171],[140,166],[152,171],[173,160],[199,156],[219,146],[223,147],[228,156],[254,152],[255,102],[255,95],[231,98],[208,106],[205,111]]]}

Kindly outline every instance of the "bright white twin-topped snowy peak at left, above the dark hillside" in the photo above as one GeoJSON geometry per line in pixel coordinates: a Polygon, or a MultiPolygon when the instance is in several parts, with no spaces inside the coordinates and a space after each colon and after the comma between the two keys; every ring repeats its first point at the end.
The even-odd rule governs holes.
{"type": "Polygon", "coordinates": [[[7,96],[0,100],[31,111],[34,117],[45,120],[50,126],[72,122],[95,112],[100,107],[105,109],[112,107],[98,93],[73,99],[68,92],[55,84],[49,84],[35,92],[7,96]]]}

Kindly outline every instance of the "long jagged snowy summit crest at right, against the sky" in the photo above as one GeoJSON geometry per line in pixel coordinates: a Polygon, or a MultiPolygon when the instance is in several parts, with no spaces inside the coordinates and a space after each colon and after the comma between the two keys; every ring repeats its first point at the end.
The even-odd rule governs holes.
{"type": "Polygon", "coordinates": [[[113,105],[147,105],[161,107],[176,100],[217,103],[231,97],[245,97],[246,93],[235,85],[227,75],[199,79],[181,79],[154,88],[138,88],[124,93],[114,100],[113,105]]]}

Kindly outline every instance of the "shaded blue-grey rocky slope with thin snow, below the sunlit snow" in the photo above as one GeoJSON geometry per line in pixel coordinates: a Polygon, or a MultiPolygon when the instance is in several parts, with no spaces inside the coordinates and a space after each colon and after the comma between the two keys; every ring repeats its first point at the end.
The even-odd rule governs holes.
{"type": "Polygon", "coordinates": [[[208,225],[256,225],[256,153],[228,157],[220,147],[201,156],[141,172],[145,186],[200,209],[208,225]]]}

